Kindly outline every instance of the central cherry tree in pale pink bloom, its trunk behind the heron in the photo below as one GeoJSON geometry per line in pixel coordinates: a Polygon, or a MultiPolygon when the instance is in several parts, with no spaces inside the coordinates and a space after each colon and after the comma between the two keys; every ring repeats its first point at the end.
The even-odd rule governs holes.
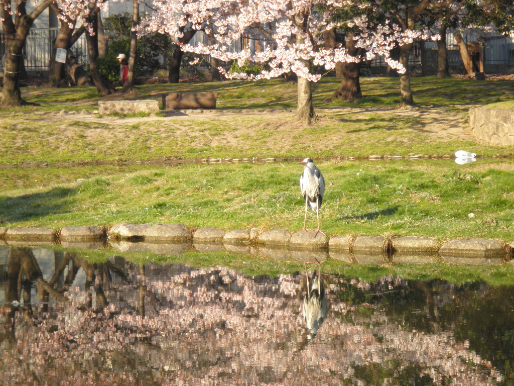
{"type": "Polygon", "coordinates": [[[409,44],[418,36],[414,30],[403,31],[392,23],[367,28],[366,16],[337,21],[336,13],[347,7],[362,6],[352,0],[156,0],[157,10],[145,20],[147,31],[158,31],[181,36],[178,29],[190,25],[192,29],[204,30],[214,39],[209,45],[183,44],[182,49],[195,54],[211,55],[224,61],[265,64],[258,75],[228,73],[223,75],[236,79],[270,79],[293,72],[298,75],[298,108],[295,119],[310,121],[316,115],[313,108],[311,83],[321,78],[311,71],[313,65],[333,69],[338,62],[358,62],[359,57],[348,53],[345,45],[325,44],[325,34],[342,26],[357,26],[355,46],[366,51],[366,58],[381,55],[398,71],[403,67],[389,55],[395,43],[409,44]],[[177,32],[178,31],[178,32],[177,32]],[[234,42],[243,38],[260,40],[264,48],[259,52],[243,47],[241,51],[231,49],[234,42]]]}

